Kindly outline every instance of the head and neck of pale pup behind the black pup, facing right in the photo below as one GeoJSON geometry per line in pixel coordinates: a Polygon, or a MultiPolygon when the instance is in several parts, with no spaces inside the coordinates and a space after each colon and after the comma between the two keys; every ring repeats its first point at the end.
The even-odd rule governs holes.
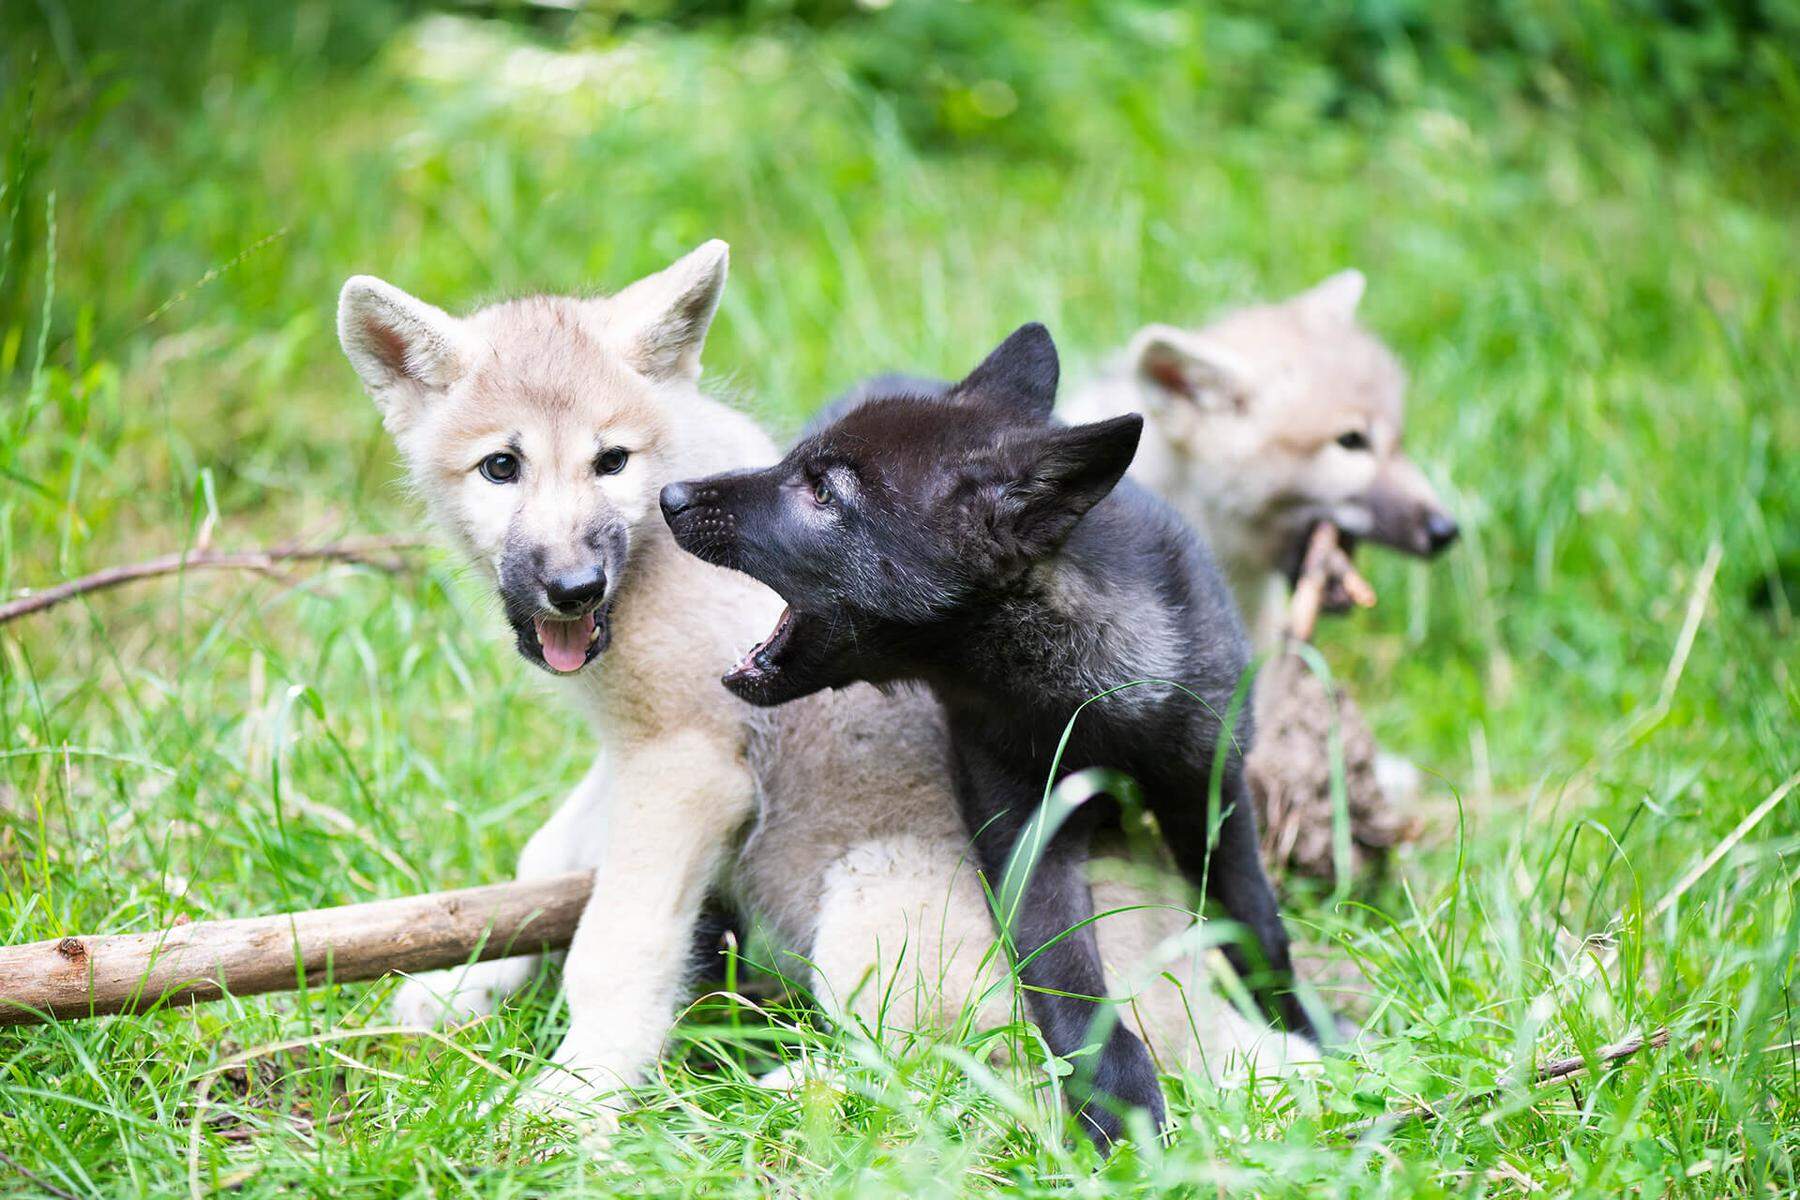
{"type": "Polygon", "coordinates": [[[1145,326],[1060,412],[1145,414],[1132,477],[1206,536],[1258,649],[1312,527],[1429,558],[1456,522],[1400,448],[1406,372],[1355,322],[1363,273],[1202,329],[1145,326]]]}

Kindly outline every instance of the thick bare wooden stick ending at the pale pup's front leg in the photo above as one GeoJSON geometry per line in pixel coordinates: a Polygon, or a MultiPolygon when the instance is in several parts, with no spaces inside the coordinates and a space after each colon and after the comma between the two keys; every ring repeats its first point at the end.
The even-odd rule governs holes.
{"type": "Polygon", "coordinates": [[[0,946],[0,1025],[144,1013],[562,950],[590,871],[430,896],[0,946]]]}

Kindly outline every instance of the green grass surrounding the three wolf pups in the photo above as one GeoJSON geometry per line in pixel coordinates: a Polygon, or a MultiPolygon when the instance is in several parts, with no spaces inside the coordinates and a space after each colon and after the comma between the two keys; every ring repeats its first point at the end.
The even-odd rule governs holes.
{"type": "MultiPolygon", "coordinates": [[[[630,25],[540,59],[562,43],[511,25],[218,20],[101,52],[52,22],[16,43],[34,67],[4,59],[0,596],[202,531],[414,529],[331,331],[353,272],[468,308],[727,237],[709,378],[792,430],[1026,318],[1093,362],[1357,264],[1467,536],[1431,569],[1366,556],[1382,604],[1325,649],[1442,799],[1386,882],[1292,898],[1368,1034],[1265,1094],[1170,1081],[1181,1132],[1098,1169],[1051,1099],[1008,1115],[954,1047],[781,1015],[848,1094],[756,1090],[770,1025],[729,1004],[596,1155],[511,1117],[547,997],[434,1042],[380,1033],[373,984],[0,1033],[0,1151],[38,1177],[0,1193],[1800,1186],[1800,799],[1658,910],[1800,768],[1800,221],[1750,149],[1598,92],[1246,113],[1179,65],[1091,67],[1120,36],[1098,22],[1046,43],[1030,112],[945,92],[945,140],[848,67],[857,25],[630,25]],[[590,85],[533,83],[565,68],[590,85]],[[1577,1087],[1343,1135],[1658,1025],[1669,1051],[1577,1087]]],[[[461,576],[194,576],[0,628],[0,937],[504,876],[592,745],[461,576]]]]}

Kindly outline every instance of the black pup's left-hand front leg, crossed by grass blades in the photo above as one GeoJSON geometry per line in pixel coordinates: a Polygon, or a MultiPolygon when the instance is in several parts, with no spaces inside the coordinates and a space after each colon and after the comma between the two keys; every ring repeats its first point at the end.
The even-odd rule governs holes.
{"type": "MultiPolygon", "coordinates": [[[[958,741],[952,750],[956,795],[963,819],[976,835],[976,856],[988,885],[1001,892],[1006,865],[1026,822],[1037,811],[1040,792],[1017,779],[974,747],[958,741]]],[[[1051,838],[1031,873],[1010,921],[1021,959],[1019,979],[1031,995],[1031,1013],[1058,1058],[1069,1058],[1093,1042],[1096,1016],[1105,1016],[1105,972],[1094,939],[1094,901],[1087,889],[1087,833],[1076,813],[1051,838]]],[[[1001,903],[1006,903],[1003,896],[1001,903]]],[[[1154,1128],[1163,1126],[1163,1088],[1156,1063],[1123,1022],[1105,1031],[1100,1054],[1087,1067],[1075,1058],[1069,1103],[1082,1132],[1102,1151],[1125,1132],[1123,1112],[1143,1108],[1154,1128]]]]}

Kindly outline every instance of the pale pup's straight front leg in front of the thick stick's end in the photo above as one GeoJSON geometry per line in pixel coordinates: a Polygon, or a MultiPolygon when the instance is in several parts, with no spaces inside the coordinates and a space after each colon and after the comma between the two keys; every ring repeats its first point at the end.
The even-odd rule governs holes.
{"type": "Polygon", "coordinates": [[[655,1060],[707,885],[754,804],[724,736],[677,732],[614,754],[594,894],[563,964],[569,1033],[558,1070],[535,1085],[547,1106],[630,1087],[655,1060]]]}

